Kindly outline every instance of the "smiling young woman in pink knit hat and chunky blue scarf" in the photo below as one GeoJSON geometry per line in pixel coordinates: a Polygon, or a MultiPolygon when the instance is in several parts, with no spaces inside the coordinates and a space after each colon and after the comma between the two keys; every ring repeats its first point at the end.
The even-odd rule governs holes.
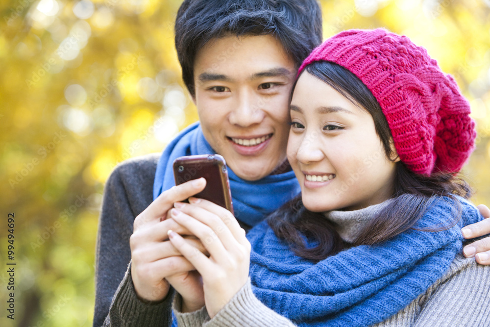
{"type": "Polygon", "coordinates": [[[325,41],[291,102],[301,199],[247,238],[211,202],[175,203],[172,218],[209,252],[169,231],[200,274],[189,285],[202,278],[203,292],[176,289],[179,323],[489,326],[490,268],[460,254],[459,229],[482,219],[457,175],[474,149],[469,112],[406,37],[350,30],[325,41]]]}

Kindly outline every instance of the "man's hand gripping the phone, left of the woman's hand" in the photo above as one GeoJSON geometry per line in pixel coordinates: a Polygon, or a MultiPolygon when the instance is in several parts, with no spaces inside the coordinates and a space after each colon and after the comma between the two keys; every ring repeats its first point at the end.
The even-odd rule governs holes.
{"type": "MultiPolygon", "coordinates": [[[[186,282],[186,279],[193,279],[188,277],[194,277],[193,280],[198,278],[195,277],[195,273],[188,274],[195,270],[192,263],[184,258],[170,241],[164,241],[168,239],[169,229],[183,235],[192,235],[187,228],[179,225],[178,222],[173,219],[166,219],[167,212],[173,207],[174,202],[184,201],[199,193],[205,185],[204,178],[199,178],[174,186],[160,194],[135,218],[129,245],[131,248],[131,277],[136,294],[140,299],[145,301],[163,300],[170,289],[166,277],[171,278],[177,287],[180,287],[182,282],[186,282]]],[[[195,237],[188,237],[183,242],[196,251],[205,252],[201,242],[195,237]]],[[[202,255],[205,256],[205,254],[202,255]]],[[[190,288],[193,290],[196,283],[191,283],[188,286],[191,286],[190,288]]],[[[180,287],[180,289],[185,293],[185,288],[180,287]]]]}

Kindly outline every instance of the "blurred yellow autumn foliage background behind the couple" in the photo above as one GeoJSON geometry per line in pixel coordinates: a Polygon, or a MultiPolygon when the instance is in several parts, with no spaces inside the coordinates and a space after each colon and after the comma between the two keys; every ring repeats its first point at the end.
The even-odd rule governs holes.
{"type": "MultiPolygon", "coordinates": [[[[180,78],[180,0],[0,3],[0,326],[91,326],[98,213],[121,161],[197,114],[180,78]],[[14,259],[7,214],[15,214],[14,259]],[[15,321],[6,312],[15,266],[15,321]]],[[[477,122],[464,173],[490,204],[490,0],[324,0],[324,38],[387,27],[454,75],[477,122]]]]}

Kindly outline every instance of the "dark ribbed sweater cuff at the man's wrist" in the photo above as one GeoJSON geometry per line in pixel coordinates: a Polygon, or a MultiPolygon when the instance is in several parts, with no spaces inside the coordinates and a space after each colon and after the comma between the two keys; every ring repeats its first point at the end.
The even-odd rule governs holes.
{"type": "Polygon", "coordinates": [[[116,292],[116,298],[109,310],[111,326],[170,326],[172,323],[171,304],[174,289],[159,302],[140,300],[131,278],[131,264],[116,292]],[[167,325],[164,322],[168,322],[167,325]]]}

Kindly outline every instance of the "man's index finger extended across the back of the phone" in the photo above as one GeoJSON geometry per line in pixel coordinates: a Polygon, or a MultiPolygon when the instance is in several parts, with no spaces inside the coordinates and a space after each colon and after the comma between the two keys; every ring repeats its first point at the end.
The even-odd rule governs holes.
{"type": "Polygon", "coordinates": [[[202,191],[205,186],[206,180],[204,178],[198,178],[174,186],[163,192],[135,218],[133,226],[134,230],[147,224],[158,223],[162,217],[166,216],[167,211],[173,207],[174,202],[184,201],[189,197],[196,195],[202,191]]]}

